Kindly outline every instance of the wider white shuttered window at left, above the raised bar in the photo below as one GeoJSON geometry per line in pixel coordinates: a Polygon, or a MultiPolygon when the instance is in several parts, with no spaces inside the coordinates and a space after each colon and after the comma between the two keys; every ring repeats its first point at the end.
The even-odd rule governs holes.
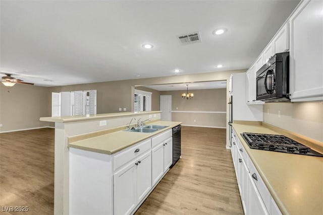
{"type": "Polygon", "coordinates": [[[96,114],[96,90],[52,93],[51,106],[52,116],[96,114]]]}

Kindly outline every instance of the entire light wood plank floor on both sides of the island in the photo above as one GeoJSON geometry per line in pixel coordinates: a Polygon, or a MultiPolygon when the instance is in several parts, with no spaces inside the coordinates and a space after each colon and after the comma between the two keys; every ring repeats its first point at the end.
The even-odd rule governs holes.
{"type": "MultiPolygon", "coordinates": [[[[243,214],[225,137],[225,129],[183,126],[182,159],[136,214],[243,214]]],[[[53,129],[0,134],[0,214],[53,214],[53,172],[53,129]]]]}

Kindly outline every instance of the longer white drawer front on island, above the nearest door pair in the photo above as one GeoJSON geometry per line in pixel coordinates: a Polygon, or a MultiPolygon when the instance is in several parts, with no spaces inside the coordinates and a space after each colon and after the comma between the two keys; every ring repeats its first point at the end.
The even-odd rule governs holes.
{"type": "Polygon", "coordinates": [[[126,149],[124,152],[121,152],[120,154],[116,155],[114,157],[114,170],[118,169],[125,163],[131,161],[132,159],[138,157],[142,153],[146,152],[151,148],[151,139],[144,140],[142,142],[139,142],[139,144],[136,144],[135,146],[129,147],[129,149],[126,149]]]}

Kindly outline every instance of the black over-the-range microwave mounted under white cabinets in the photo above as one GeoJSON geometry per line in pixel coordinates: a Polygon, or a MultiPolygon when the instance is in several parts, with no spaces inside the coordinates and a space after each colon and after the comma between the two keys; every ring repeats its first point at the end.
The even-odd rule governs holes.
{"type": "Polygon", "coordinates": [[[289,52],[275,54],[257,71],[256,100],[290,101],[289,52]]]}

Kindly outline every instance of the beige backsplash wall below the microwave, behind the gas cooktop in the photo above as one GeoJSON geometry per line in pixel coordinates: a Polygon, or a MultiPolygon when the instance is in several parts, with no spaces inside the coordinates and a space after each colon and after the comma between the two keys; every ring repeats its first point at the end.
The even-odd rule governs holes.
{"type": "Polygon", "coordinates": [[[323,142],[323,102],[265,103],[263,121],[323,142]]]}

